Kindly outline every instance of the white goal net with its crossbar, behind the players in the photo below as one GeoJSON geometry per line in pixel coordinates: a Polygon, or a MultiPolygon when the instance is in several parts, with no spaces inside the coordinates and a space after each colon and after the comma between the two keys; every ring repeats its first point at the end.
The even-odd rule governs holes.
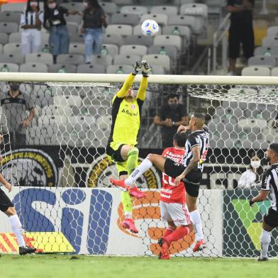
{"type": "MultiPolygon", "coordinates": [[[[1,151],[1,172],[15,185],[9,196],[26,230],[28,244],[40,252],[157,255],[157,240],[165,228],[159,208],[161,173],[152,167],[138,180],[138,187],[147,193],[143,200],[133,199],[138,235],[121,227],[121,191],[109,183],[110,177],[118,176],[105,151],[111,128],[111,99],[126,76],[5,73],[1,77],[19,80],[21,96],[35,111],[27,128],[23,128],[30,111],[11,104],[8,113],[5,99],[9,84],[1,82],[1,134],[9,135],[1,151]],[[13,118],[17,114],[21,123],[15,126],[13,118]]],[[[139,81],[138,77],[135,92],[139,81]]],[[[179,94],[179,102],[189,116],[196,111],[206,113],[211,134],[198,201],[206,249],[192,251],[192,232],[172,244],[171,254],[259,255],[262,215],[270,201],[250,208],[248,199],[260,190],[261,174],[267,167],[267,146],[278,143],[278,128],[273,127],[278,112],[277,82],[268,77],[150,77],[138,136],[140,161],[150,152],[162,153],[160,129],[153,118],[169,93],[179,94]],[[254,155],[261,161],[255,181],[240,184],[254,155]]],[[[0,233],[0,252],[14,252],[8,223],[0,224],[0,233]]],[[[277,236],[274,230],[269,245],[273,257],[278,254],[274,244],[277,236]]]]}

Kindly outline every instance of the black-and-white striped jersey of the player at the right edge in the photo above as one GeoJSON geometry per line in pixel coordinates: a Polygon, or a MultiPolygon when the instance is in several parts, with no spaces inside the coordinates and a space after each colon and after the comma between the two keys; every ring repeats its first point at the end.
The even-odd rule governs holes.
{"type": "Polygon", "coordinates": [[[270,191],[272,209],[278,211],[278,163],[272,164],[262,175],[261,190],[270,191]]]}

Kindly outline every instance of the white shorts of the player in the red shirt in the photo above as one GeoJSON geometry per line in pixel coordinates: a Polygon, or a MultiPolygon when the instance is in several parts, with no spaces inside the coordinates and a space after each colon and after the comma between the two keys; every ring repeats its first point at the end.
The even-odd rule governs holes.
{"type": "Polygon", "coordinates": [[[160,214],[163,221],[173,221],[176,226],[188,226],[192,222],[187,204],[160,201],[160,214]]]}

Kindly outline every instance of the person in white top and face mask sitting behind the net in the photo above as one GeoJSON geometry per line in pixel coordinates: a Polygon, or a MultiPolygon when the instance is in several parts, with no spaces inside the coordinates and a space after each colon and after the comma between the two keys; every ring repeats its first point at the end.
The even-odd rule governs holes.
{"type": "Polygon", "coordinates": [[[260,182],[262,172],[260,158],[255,154],[252,155],[250,167],[241,175],[238,181],[238,188],[250,189],[251,187],[256,187],[256,184],[260,182]]]}

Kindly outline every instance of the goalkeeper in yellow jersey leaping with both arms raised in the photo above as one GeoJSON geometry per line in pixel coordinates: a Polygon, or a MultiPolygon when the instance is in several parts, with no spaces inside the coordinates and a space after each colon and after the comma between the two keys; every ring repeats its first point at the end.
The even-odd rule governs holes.
{"type": "MultiPolygon", "coordinates": [[[[135,146],[138,143],[140,117],[145,101],[150,69],[151,67],[146,61],[135,62],[133,72],[128,75],[123,87],[112,99],[112,125],[106,153],[113,162],[116,162],[118,175],[122,180],[126,179],[138,166],[139,150],[135,146]],[[132,84],[140,70],[142,70],[143,77],[135,97],[132,84]]],[[[121,201],[125,212],[125,220],[122,226],[133,233],[138,233],[132,218],[133,201],[130,196],[144,198],[145,193],[136,186],[129,187],[121,193],[121,201]]]]}

